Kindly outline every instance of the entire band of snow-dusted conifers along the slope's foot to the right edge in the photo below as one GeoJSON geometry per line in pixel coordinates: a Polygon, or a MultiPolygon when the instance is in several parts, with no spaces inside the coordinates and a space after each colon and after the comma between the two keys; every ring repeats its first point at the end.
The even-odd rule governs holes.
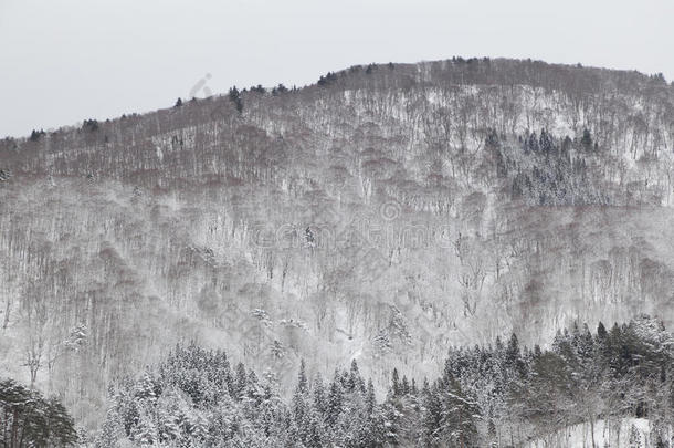
{"type": "Polygon", "coordinates": [[[674,425],[674,338],[640,316],[596,333],[559,332],[551,348],[507,341],[452,347],[440,377],[400,376],[386,397],[356,360],[324,379],[301,363],[291,394],[224,352],[177,346],[158,366],[119,382],[95,446],[224,447],[663,447],[674,425]],[[284,399],[284,395],[289,398],[284,399]],[[625,423],[647,421],[646,430],[625,423]],[[603,441],[600,444],[600,441],[603,441]],[[604,445],[605,442],[605,445],[604,445]]]}

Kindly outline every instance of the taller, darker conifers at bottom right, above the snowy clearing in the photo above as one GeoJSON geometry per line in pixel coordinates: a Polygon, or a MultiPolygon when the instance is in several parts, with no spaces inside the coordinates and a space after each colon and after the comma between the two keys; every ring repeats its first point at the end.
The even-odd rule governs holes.
{"type": "Polygon", "coordinates": [[[673,342],[647,316],[610,331],[600,322],[594,334],[575,324],[549,350],[520,348],[516,335],[453,348],[445,376],[478,404],[485,445],[519,446],[578,424],[601,419],[619,428],[625,418],[646,418],[652,445],[671,447],[673,342]]]}

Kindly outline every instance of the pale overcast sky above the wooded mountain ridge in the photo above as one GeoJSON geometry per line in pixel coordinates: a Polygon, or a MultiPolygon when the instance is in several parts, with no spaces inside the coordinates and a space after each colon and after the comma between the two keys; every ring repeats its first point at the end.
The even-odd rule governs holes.
{"type": "Polygon", "coordinates": [[[167,107],[207,73],[220,93],[486,55],[672,81],[673,42],[673,0],[0,0],[0,137],[167,107]]]}

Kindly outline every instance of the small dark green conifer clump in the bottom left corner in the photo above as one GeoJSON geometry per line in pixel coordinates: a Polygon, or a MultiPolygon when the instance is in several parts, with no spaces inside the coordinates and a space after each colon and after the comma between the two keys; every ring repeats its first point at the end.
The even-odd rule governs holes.
{"type": "Polygon", "coordinates": [[[45,399],[13,379],[0,382],[1,447],[65,447],[76,441],[73,419],[57,398],[45,399]]]}

